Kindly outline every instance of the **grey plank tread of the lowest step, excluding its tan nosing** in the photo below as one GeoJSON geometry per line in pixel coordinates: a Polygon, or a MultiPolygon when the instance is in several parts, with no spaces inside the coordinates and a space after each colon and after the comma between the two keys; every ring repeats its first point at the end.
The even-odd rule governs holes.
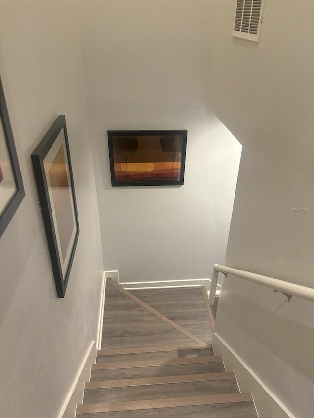
{"type": "Polygon", "coordinates": [[[180,350],[180,351],[160,351],[153,353],[133,353],[133,354],[114,354],[107,356],[97,356],[96,363],[135,361],[135,360],[154,360],[164,358],[194,358],[213,356],[213,350],[180,350]]]}

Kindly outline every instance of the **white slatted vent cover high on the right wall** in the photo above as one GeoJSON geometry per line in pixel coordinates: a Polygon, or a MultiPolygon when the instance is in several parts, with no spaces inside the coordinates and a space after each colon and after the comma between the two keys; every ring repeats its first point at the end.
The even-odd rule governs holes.
{"type": "Polygon", "coordinates": [[[259,42],[265,0],[237,0],[233,36],[259,42]]]}

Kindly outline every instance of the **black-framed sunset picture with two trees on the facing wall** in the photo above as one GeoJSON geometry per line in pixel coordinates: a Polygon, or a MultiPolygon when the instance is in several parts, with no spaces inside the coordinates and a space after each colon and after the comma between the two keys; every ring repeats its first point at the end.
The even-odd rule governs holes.
{"type": "Polygon", "coordinates": [[[108,131],[112,186],[180,186],[187,130],[108,131]]]}

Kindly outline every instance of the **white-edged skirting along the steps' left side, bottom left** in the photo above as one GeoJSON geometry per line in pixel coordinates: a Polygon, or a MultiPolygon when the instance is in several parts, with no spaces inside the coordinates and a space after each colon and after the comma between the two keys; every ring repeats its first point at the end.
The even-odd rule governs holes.
{"type": "Polygon", "coordinates": [[[58,414],[58,418],[75,418],[76,406],[83,402],[85,382],[90,379],[91,364],[96,362],[96,354],[96,344],[95,340],[93,340],[87,348],[71,389],[58,414]]]}

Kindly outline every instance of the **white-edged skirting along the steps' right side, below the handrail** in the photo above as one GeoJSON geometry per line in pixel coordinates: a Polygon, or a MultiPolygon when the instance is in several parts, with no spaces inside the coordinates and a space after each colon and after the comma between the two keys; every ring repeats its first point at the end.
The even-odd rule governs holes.
{"type": "Polygon", "coordinates": [[[251,392],[259,418],[295,418],[235,351],[214,332],[212,347],[221,355],[226,371],[234,371],[241,392],[251,392]]]}

